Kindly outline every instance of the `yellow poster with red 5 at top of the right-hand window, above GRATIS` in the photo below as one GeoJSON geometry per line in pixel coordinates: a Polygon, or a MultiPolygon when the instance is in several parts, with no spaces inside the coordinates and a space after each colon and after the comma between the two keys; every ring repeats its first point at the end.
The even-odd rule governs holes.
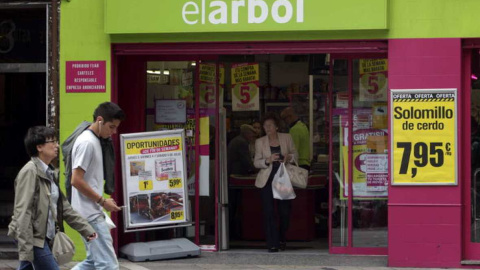
{"type": "Polygon", "coordinates": [[[387,101],[388,59],[360,59],[360,101],[387,101]]]}

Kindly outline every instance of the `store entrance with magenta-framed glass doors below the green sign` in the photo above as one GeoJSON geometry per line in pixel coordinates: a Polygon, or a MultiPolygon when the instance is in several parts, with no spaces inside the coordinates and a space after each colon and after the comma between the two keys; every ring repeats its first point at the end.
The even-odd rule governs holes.
{"type": "MultiPolygon", "coordinates": [[[[117,57],[114,99],[131,116],[121,132],[183,128],[187,137],[192,227],[145,238],[187,237],[204,250],[266,251],[256,170],[227,171],[238,159],[228,148],[243,125],[258,126],[266,113],[277,113],[279,132],[289,133],[280,116],[290,108],[308,129],[310,170],[308,187],[295,189],[287,250],[386,254],[388,168],[380,162],[388,153],[385,57],[231,51],[117,57]],[[363,64],[382,70],[361,71],[367,59],[383,59],[363,64]],[[186,100],[187,121],[156,119],[155,103],[162,99],[186,100]],[[364,158],[376,162],[373,171],[363,166],[364,158]]],[[[244,149],[250,159],[251,149],[244,149]]]]}

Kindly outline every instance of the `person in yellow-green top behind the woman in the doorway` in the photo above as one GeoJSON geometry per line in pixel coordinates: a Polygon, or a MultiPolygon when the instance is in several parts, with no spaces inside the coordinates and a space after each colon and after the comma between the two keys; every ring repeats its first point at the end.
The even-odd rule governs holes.
{"type": "Polygon", "coordinates": [[[298,166],[310,171],[310,133],[307,125],[298,118],[293,107],[285,108],[280,117],[289,126],[289,133],[298,151],[298,166]]]}

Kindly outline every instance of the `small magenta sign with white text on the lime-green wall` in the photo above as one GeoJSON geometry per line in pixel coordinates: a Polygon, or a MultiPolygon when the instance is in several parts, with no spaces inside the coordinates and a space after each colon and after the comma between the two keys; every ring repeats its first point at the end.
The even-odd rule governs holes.
{"type": "Polygon", "coordinates": [[[105,92],[105,61],[67,61],[67,93],[105,92]]]}

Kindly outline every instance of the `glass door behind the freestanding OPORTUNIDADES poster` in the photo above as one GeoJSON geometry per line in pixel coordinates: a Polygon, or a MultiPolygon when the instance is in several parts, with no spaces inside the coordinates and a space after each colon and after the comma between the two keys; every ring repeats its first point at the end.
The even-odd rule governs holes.
{"type": "MultiPolygon", "coordinates": [[[[210,57],[212,58],[212,57],[210,57]]],[[[210,59],[209,58],[209,59],[210,59]]],[[[217,250],[218,111],[220,69],[213,61],[162,57],[146,62],[146,131],[185,130],[191,226],[159,238],[186,237],[204,250],[217,250]],[[157,118],[157,101],[185,100],[186,122],[157,118]]]]}

